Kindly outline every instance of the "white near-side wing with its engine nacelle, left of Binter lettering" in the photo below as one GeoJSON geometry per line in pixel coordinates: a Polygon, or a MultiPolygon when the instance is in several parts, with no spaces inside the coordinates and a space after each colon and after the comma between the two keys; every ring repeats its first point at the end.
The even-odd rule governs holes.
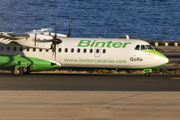
{"type": "Polygon", "coordinates": [[[62,41],[60,38],[53,38],[52,36],[43,34],[15,34],[1,32],[0,42],[4,44],[13,42],[26,47],[52,49],[55,48],[55,45],[60,44],[62,41]]]}

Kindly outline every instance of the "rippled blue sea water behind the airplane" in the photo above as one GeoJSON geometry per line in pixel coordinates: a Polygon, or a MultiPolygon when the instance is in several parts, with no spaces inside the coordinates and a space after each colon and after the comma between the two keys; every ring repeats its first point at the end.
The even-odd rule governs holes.
{"type": "Polygon", "coordinates": [[[72,37],[134,36],[149,40],[179,40],[178,0],[1,0],[0,31],[26,32],[53,28],[72,37]]]}

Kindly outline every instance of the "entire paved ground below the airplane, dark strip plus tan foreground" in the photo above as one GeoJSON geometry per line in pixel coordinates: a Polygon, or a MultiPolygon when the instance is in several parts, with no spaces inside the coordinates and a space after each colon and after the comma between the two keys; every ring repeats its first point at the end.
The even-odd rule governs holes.
{"type": "Polygon", "coordinates": [[[178,120],[180,75],[0,74],[2,120],[178,120]]]}

